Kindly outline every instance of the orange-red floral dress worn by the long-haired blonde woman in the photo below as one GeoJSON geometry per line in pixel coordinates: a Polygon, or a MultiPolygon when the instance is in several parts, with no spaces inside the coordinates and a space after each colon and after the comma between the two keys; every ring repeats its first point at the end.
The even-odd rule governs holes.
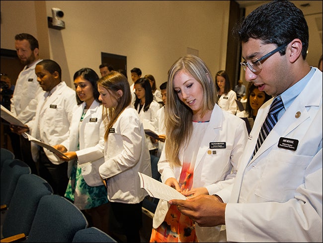
{"type": "MultiPolygon", "coordinates": [[[[179,177],[181,189],[190,190],[193,185],[193,172],[198,147],[209,122],[193,122],[192,136],[184,150],[182,170],[179,177]],[[189,162],[191,161],[191,162],[189,162]]],[[[198,242],[195,234],[195,223],[182,215],[175,205],[170,205],[163,223],[152,230],[150,242],[198,242]]]]}

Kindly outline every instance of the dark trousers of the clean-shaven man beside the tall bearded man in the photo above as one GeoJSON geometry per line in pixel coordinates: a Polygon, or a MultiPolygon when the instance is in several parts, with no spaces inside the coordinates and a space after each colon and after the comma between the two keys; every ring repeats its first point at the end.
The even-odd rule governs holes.
{"type": "Polygon", "coordinates": [[[46,156],[44,149],[39,150],[39,176],[44,178],[53,188],[54,194],[64,197],[69,178],[67,177],[68,162],[56,165],[46,156]]]}

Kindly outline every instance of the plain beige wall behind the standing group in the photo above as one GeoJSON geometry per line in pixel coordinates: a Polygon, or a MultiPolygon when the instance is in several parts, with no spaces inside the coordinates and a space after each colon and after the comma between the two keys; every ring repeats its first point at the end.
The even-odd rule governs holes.
{"type": "Polygon", "coordinates": [[[1,1],[1,48],[14,50],[14,35],[27,32],[41,58],[57,61],[72,87],[82,67],[99,74],[101,52],[127,56],[130,70],[152,74],[159,86],[187,49],[198,50],[213,75],[225,69],[230,1],[1,1]],[[47,27],[51,8],[64,11],[66,28],[47,27]]]}

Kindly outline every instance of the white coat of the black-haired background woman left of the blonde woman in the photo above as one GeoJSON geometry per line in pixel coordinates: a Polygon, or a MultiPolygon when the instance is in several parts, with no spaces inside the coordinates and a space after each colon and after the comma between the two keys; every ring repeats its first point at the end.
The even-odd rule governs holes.
{"type": "MultiPolygon", "coordinates": [[[[153,129],[151,130],[157,131],[156,117],[159,109],[161,109],[160,104],[154,100],[152,101],[152,103],[150,103],[149,109],[146,112],[144,112],[144,107],[139,112],[139,105],[138,105],[137,112],[139,112],[139,117],[140,117],[140,120],[143,122],[144,128],[151,129],[151,127],[153,126],[153,129]]],[[[146,135],[146,140],[147,140],[149,150],[158,148],[158,142],[152,143],[148,135],[146,135]]]]}

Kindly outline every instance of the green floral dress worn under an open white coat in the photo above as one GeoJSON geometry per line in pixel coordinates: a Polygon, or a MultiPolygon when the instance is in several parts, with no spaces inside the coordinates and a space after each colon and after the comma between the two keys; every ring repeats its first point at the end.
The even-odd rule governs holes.
{"type": "MultiPolygon", "coordinates": [[[[86,111],[84,109],[81,121],[83,120],[86,111]]],[[[80,149],[80,144],[78,144],[80,149]]],[[[107,190],[104,185],[89,186],[86,184],[79,163],[75,163],[72,169],[71,177],[64,195],[66,198],[72,200],[80,210],[98,207],[102,204],[108,203],[107,190]]]]}

